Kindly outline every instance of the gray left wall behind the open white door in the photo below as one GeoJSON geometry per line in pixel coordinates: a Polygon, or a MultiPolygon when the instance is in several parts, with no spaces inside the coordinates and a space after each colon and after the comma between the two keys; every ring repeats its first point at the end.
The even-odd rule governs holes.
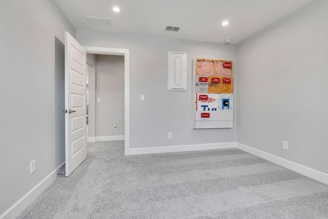
{"type": "Polygon", "coordinates": [[[54,1],[41,0],[2,0],[0,28],[2,215],[65,161],[63,42],[75,30],[54,1]]]}

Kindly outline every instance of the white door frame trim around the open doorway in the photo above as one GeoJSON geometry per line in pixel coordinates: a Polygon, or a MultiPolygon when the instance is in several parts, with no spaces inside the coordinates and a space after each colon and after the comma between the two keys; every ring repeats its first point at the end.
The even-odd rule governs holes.
{"type": "Polygon", "coordinates": [[[83,46],[87,53],[124,56],[124,152],[130,151],[130,50],[107,47],[83,46]]]}

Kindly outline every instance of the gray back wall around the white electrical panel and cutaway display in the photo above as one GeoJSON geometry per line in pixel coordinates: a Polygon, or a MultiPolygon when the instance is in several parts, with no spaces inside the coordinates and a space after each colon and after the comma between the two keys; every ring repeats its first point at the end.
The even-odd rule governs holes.
{"type": "Polygon", "coordinates": [[[234,59],[234,45],[79,30],[76,39],[84,46],[130,49],[131,148],[235,142],[235,128],[192,129],[191,87],[194,57],[234,59]],[[167,90],[168,51],[188,53],[187,92],[167,90]]]}

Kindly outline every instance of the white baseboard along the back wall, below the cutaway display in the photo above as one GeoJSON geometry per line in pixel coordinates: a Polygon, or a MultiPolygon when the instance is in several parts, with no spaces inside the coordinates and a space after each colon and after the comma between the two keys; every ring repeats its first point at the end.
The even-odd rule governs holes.
{"type": "Polygon", "coordinates": [[[125,155],[150,154],[150,153],[168,153],[181,151],[199,151],[211,149],[236,148],[235,142],[214,143],[214,144],[199,144],[199,145],[176,145],[151,148],[130,148],[125,155]]]}

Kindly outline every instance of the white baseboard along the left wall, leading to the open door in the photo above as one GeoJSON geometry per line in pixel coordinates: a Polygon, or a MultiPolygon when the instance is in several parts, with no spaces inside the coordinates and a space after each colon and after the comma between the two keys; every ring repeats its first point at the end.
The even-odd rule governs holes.
{"type": "Polygon", "coordinates": [[[41,194],[57,177],[57,170],[63,166],[65,162],[60,164],[55,170],[47,175],[41,182],[39,182],[33,189],[26,193],[20,200],[18,200],[7,211],[0,215],[0,219],[16,218],[20,213],[24,211],[34,200],[41,194]]]}

